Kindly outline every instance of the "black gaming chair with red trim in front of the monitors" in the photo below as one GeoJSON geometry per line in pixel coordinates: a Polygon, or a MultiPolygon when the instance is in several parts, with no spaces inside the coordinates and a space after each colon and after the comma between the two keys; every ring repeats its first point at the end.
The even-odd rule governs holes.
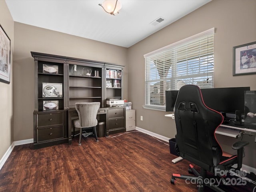
{"type": "MultiPolygon", "coordinates": [[[[249,142],[236,142],[232,148],[237,150],[237,155],[224,156],[215,136],[215,130],[223,122],[223,116],[204,104],[198,86],[185,85],[180,88],[174,107],[174,117],[177,129],[176,151],[182,158],[199,166],[200,173],[190,164],[188,172],[195,176],[172,174],[171,183],[175,184],[176,178],[194,180],[198,184],[198,192],[204,191],[205,186],[224,192],[217,186],[202,181],[207,177],[207,172],[220,178],[223,176],[221,173],[229,170],[234,164],[238,164],[237,169],[240,170],[244,146],[249,142]]],[[[220,179],[224,183],[224,178],[220,179]]]]}

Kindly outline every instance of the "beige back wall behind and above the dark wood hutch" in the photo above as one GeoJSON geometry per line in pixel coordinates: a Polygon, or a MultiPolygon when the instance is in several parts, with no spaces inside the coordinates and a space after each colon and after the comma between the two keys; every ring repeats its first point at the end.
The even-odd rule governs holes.
{"type": "MultiPolygon", "coordinates": [[[[14,141],[33,138],[34,58],[31,51],[126,66],[127,48],[14,22],[14,141]]],[[[124,68],[124,97],[127,72],[124,68]]]]}

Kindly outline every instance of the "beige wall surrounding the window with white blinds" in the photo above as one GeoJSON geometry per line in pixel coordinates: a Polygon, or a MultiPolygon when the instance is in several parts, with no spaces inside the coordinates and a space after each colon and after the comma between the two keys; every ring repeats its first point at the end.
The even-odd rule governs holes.
{"type": "MultiPolygon", "coordinates": [[[[168,112],[148,110],[144,105],[144,57],[143,55],[162,48],[212,27],[214,34],[214,87],[250,86],[256,90],[256,75],[233,76],[232,48],[256,41],[256,0],[212,0],[208,4],[152,34],[128,48],[128,98],[136,109],[136,126],[157,134],[174,138],[174,120],[164,117],[168,112]],[[140,120],[143,116],[143,121],[140,120]]],[[[220,137],[225,150],[236,139],[220,137]],[[228,142],[226,142],[228,140],[228,142]]],[[[254,137],[246,148],[245,164],[256,167],[256,144],[254,137]],[[251,157],[254,158],[251,158],[251,157]]]]}

